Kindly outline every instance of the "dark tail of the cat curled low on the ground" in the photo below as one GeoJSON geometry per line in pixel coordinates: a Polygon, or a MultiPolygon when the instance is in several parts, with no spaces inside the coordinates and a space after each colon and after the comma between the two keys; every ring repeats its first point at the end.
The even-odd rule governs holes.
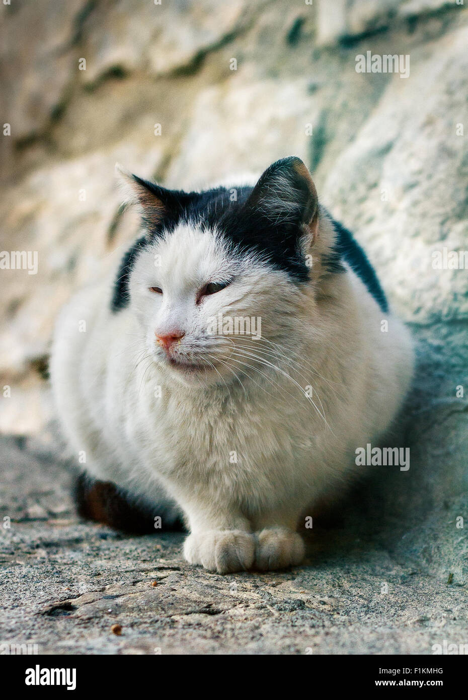
{"type": "Polygon", "coordinates": [[[115,530],[145,535],[184,529],[182,513],[173,501],[162,498],[160,503],[150,503],[85,473],[76,479],[74,496],[81,517],[115,530]]]}

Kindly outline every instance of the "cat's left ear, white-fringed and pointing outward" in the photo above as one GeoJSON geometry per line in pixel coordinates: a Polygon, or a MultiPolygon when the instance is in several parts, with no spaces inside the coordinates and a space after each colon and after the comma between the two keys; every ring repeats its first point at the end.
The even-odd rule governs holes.
{"type": "Polygon", "coordinates": [[[143,221],[155,227],[170,216],[176,202],[171,190],[143,180],[115,163],[115,173],[127,204],[137,204],[143,221]]]}

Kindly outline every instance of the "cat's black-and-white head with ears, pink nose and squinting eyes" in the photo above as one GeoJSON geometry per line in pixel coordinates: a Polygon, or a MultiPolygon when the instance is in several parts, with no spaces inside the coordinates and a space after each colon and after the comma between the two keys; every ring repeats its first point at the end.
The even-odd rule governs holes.
{"type": "Polygon", "coordinates": [[[185,384],[281,363],[299,344],[330,246],[302,160],[278,160],[255,186],[193,193],[126,179],[144,235],[120,270],[114,310],[129,304],[154,361],[185,384]]]}

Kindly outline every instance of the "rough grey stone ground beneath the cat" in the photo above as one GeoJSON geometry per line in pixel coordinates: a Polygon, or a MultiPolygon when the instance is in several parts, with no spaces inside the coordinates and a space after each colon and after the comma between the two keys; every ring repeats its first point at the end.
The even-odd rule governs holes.
{"type": "Polygon", "coordinates": [[[437,556],[421,557],[430,527],[440,546],[440,522],[416,527],[425,545],[415,544],[406,522],[383,514],[375,479],[309,533],[304,566],[221,576],[183,561],[180,533],[130,537],[80,521],[71,470],[50,446],[5,438],[1,451],[1,515],[11,518],[2,642],[36,643],[40,654],[431,654],[444,640],[467,643],[460,569],[430,574],[437,556]]]}

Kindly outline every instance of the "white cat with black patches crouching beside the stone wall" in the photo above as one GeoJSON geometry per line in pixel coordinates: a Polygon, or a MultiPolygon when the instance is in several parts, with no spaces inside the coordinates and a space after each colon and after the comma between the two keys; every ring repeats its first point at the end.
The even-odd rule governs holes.
{"type": "Polygon", "coordinates": [[[409,331],[299,158],[190,193],[121,176],[141,232],[66,305],[51,354],[81,512],[183,519],[185,559],[218,573],[296,566],[299,518],[402,405],[409,331]]]}

